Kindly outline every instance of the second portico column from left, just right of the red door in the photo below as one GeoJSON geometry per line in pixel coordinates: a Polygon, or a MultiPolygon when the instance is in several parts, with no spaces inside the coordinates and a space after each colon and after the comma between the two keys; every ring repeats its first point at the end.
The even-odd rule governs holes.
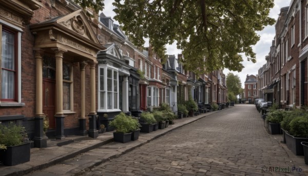
{"type": "Polygon", "coordinates": [[[55,138],[64,139],[64,114],[63,114],[63,53],[65,51],[55,49],[55,138]]]}

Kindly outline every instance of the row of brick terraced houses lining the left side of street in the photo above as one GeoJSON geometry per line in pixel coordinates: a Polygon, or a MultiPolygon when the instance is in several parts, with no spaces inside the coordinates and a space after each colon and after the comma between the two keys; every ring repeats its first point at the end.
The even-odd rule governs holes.
{"type": "Polygon", "coordinates": [[[182,55],[162,63],[104,13],[87,9],[94,17],[87,16],[70,0],[0,3],[0,122],[25,126],[35,147],[46,147],[46,138],[95,138],[100,124],[113,130],[108,122],[121,111],[139,116],[166,103],[177,113],[189,96],[200,104],[227,100],[222,71],[195,75],[182,55]]]}

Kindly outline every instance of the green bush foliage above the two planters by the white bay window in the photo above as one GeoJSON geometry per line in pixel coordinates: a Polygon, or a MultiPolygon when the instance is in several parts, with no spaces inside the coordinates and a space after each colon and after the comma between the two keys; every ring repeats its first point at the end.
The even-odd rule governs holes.
{"type": "Polygon", "coordinates": [[[138,120],[131,118],[131,116],[127,116],[123,112],[115,115],[114,120],[109,122],[109,125],[117,129],[117,132],[123,133],[134,131],[140,127],[138,120]]]}

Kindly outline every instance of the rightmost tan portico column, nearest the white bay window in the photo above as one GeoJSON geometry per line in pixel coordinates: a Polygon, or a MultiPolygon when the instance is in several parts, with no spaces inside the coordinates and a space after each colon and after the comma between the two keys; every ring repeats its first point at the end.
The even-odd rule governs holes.
{"type": "Polygon", "coordinates": [[[95,66],[96,63],[90,63],[90,113],[89,113],[89,132],[91,138],[97,138],[99,131],[97,130],[96,120],[96,105],[95,105],[95,66]]]}

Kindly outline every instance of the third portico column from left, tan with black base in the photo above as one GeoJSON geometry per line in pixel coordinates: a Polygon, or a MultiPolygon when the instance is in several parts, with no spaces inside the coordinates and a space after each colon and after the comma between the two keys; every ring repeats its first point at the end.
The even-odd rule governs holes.
{"type": "Polygon", "coordinates": [[[80,77],[81,77],[81,116],[79,118],[79,135],[87,135],[86,130],[86,62],[79,63],[80,66],[80,77]]]}

